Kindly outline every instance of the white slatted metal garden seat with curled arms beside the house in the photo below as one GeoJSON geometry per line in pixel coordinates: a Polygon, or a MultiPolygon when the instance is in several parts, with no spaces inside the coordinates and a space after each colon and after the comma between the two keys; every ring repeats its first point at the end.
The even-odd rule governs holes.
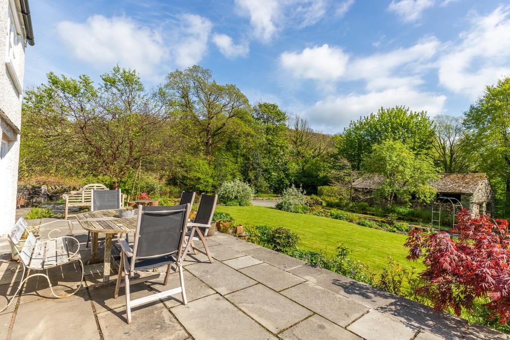
{"type": "Polygon", "coordinates": [[[21,251],[16,251],[19,255],[19,259],[23,266],[23,274],[22,280],[19,282],[18,289],[14,296],[9,301],[7,306],[0,310],[0,312],[6,310],[9,305],[14,301],[14,298],[18,294],[21,286],[24,282],[26,282],[29,278],[34,276],[44,276],[48,281],[49,288],[52,291],[52,294],[57,298],[66,298],[71,295],[74,295],[83,284],[83,263],[81,260],[81,256],[79,253],[80,250],[80,242],[77,239],[70,236],[62,236],[55,239],[49,239],[47,241],[37,242],[34,234],[28,230],[28,223],[24,218],[20,218],[11,231],[8,234],[8,238],[10,242],[12,242],[15,246],[21,241],[21,236],[24,232],[28,233],[28,237],[25,240],[23,248],[21,251]],[[46,274],[36,273],[30,275],[31,270],[42,271],[47,270],[53,267],[63,266],[66,264],[79,262],[82,268],[82,277],[80,279],[80,285],[75,289],[72,293],[57,295],[53,291],[52,283],[49,280],[49,277],[46,274]],[[25,269],[27,270],[27,277],[25,276],[25,269]],[[24,277],[24,278],[23,278],[24,277]]]}

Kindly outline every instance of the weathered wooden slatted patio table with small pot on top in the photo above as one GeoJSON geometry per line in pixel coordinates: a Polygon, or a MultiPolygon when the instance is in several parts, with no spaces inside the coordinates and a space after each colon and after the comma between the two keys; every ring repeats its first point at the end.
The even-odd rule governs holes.
{"type": "MultiPolygon", "coordinates": [[[[137,210],[135,210],[135,213],[137,210]]],[[[118,210],[98,210],[94,212],[81,213],[76,218],[82,228],[92,232],[92,259],[97,259],[98,234],[104,233],[105,237],[105,265],[103,283],[110,280],[110,261],[112,257],[112,238],[117,233],[135,233],[137,218],[120,218],[118,210]]]]}

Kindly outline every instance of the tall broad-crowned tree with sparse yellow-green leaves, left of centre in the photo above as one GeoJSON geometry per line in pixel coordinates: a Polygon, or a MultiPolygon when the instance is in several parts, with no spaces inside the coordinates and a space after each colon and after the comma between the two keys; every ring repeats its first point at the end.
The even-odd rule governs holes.
{"type": "Polygon", "coordinates": [[[246,96],[232,84],[219,85],[210,70],[194,65],[166,77],[170,103],[198,131],[207,156],[213,149],[239,137],[250,115],[246,96]]]}

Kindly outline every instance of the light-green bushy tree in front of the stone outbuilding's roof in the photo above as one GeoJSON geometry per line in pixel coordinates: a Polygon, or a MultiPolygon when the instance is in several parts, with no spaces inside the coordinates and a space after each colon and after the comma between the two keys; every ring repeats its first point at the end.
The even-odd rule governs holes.
{"type": "Polygon", "coordinates": [[[429,184],[438,179],[432,161],[416,155],[400,141],[383,141],[374,145],[366,159],[367,171],[380,176],[375,194],[391,206],[395,196],[404,202],[411,198],[428,202],[436,194],[429,184]]]}

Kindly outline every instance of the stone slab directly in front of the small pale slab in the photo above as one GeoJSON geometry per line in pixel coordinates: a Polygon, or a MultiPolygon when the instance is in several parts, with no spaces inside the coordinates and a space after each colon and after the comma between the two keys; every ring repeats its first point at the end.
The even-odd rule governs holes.
{"type": "Polygon", "coordinates": [[[267,285],[275,291],[281,291],[298,283],[304,282],[304,279],[286,272],[285,270],[268,265],[267,263],[240,269],[239,271],[260,283],[267,285]]]}

